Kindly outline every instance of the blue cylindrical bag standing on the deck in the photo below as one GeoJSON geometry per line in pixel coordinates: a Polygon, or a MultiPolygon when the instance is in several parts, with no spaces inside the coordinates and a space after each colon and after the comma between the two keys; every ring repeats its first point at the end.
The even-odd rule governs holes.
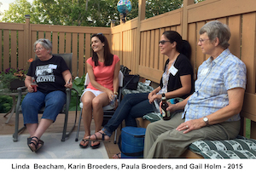
{"type": "Polygon", "coordinates": [[[125,127],[119,136],[121,158],[143,158],[146,129],[125,127]]]}

